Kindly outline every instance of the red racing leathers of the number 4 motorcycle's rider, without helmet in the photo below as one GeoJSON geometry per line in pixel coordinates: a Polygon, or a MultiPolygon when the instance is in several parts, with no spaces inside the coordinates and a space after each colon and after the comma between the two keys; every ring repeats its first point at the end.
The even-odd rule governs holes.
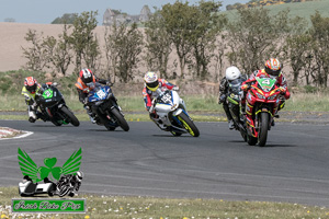
{"type": "MultiPolygon", "coordinates": [[[[273,76],[268,74],[264,69],[261,69],[261,70],[254,71],[250,76],[250,78],[242,83],[241,90],[243,90],[243,97],[241,100],[241,105],[246,107],[246,108],[245,107],[242,108],[242,112],[243,113],[246,112],[249,115],[252,114],[253,105],[248,102],[247,106],[246,106],[246,94],[247,94],[247,91],[249,90],[250,85],[253,82],[256,82],[257,77],[258,78],[273,78],[273,76]]],[[[279,77],[275,77],[275,78],[276,78],[276,85],[280,87],[281,94],[284,96],[285,100],[288,100],[291,97],[291,93],[287,89],[287,83],[286,83],[286,80],[285,80],[283,73],[281,72],[279,74],[279,77]]],[[[275,114],[277,113],[277,111],[280,111],[284,107],[285,100],[280,100],[279,102],[275,103],[275,105],[274,105],[275,114]]]]}

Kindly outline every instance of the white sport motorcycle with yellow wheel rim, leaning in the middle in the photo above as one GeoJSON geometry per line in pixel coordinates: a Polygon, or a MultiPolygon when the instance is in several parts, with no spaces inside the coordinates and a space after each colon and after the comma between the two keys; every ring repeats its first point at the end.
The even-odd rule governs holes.
{"type": "Polygon", "coordinates": [[[149,112],[156,111],[157,117],[151,119],[161,130],[170,131],[173,136],[182,134],[200,136],[200,131],[189,116],[185,103],[178,92],[162,88],[162,90],[158,89],[152,96],[152,106],[149,112]]]}

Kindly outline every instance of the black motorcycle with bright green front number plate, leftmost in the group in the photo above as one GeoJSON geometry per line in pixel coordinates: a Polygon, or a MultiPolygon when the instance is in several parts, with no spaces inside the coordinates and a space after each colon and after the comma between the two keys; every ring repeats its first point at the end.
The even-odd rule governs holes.
{"type": "Polygon", "coordinates": [[[44,92],[39,99],[39,107],[44,120],[52,122],[55,126],[72,124],[79,126],[80,122],[66,105],[64,96],[55,85],[43,85],[44,92]]]}

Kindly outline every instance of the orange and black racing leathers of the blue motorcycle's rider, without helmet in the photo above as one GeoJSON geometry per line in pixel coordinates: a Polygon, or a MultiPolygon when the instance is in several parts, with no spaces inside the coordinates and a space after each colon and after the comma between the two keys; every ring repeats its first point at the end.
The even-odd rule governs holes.
{"type": "Polygon", "coordinates": [[[95,76],[92,76],[92,82],[91,83],[83,83],[83,81],[81,80],[81,78],[78,78],[77,83],[75,84],[77,87],[77,91],[79,94],[79,101],[83,104],[83,107],[87,111],[87,114],[90,117],[90,120],[92,123],[95,123],[95,114],[92,113],[91,106],[88,105],[88,94],[90,91],[92,91],[95,87],[95,83],[101,83],[101,84],[106,84],[107,80],[104,79],[98,79],[95,76]]]}

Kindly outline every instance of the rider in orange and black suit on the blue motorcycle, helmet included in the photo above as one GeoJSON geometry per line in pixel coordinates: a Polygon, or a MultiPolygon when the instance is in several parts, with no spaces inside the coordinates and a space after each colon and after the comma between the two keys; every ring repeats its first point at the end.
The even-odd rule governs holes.
{"type": "Polygon", "coordinates": [[[76,83],[79,101],[83,104],[83,107],[87,110],[87,114],[92,123],[95,123],[95,114],[92,113],[90,105],[88,105],[88,94],[95,88],[95,82],[106,84],[109,81],[104,79],[98,79],[90,69],[83,68],[79,72],[76,83]]]}

